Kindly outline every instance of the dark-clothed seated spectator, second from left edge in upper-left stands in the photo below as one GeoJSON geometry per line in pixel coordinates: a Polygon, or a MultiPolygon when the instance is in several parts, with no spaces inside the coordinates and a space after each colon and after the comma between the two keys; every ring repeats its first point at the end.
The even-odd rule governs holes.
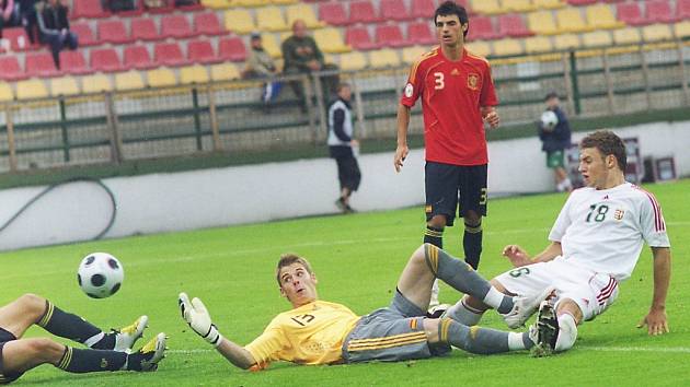
{"type": "Polygon", "coordinates": [[[68,10],[60,0],[47,0],[38,12],[38,30],[44,43],[50,45],[55,66],[60,68],[60,51],[65,46],[77,49],[77,34],[69,31],[68,10]]]}

